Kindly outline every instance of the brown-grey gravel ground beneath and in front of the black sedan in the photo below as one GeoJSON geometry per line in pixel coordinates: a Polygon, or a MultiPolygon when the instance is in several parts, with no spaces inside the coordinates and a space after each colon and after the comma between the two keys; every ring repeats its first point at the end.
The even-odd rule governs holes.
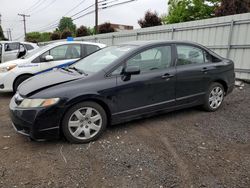
{"type": "Polygon", "coordinates": [[[0,94],[0,187],[250,187],[250,86],[222,108],[110,127],[96,142],[32,142],[0,94]]]}

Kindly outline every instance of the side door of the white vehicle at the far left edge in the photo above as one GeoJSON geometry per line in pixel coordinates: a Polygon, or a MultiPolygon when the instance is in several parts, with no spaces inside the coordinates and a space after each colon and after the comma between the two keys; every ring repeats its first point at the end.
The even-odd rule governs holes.
{"type": "Polygon", "coordinates": [[[4,44],[3,62],[17,59],[20,43],[12,42],[4,44]]]}

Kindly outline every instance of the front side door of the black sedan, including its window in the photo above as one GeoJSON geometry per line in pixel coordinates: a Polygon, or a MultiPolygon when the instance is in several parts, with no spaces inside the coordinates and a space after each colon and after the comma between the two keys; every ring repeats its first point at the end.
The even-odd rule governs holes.
{"type": "Polygon", "coordinates": [[[139,66],[140,74],[129,80],[117,77],[116,115],[133,116],[173,106],[176,70],[172,64],[171,45],[151,47],[130,57],[124,66],[139,66]]]}

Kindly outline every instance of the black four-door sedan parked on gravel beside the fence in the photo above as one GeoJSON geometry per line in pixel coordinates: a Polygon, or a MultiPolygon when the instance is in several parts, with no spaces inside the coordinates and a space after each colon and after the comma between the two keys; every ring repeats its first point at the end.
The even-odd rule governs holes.
{"type": "Polygon", "coordinates": [[[86,143],[107,125],[198,105],[216,111],[234,80],[233,62],[199,44],[129,42],[25,81],[10,114],[34,140],[86,143]]]}

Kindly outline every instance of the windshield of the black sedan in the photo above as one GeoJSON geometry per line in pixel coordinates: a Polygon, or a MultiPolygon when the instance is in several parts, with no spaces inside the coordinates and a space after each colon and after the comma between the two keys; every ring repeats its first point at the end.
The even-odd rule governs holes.
{"type": "Polygon", "coordinates": [[[115,60],[128,53],[136,46],[124,45],[124,46],[110,46],[99,50],[84,59],[71,65],[76,69],[79,69],[87,74],[96,73],[105,67],[112,64],[115,60]]]}

